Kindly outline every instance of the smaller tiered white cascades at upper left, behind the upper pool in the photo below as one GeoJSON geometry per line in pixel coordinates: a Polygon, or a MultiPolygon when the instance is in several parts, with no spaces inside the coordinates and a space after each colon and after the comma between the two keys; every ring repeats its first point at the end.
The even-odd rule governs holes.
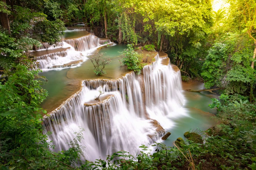
{"type": "MultiPolygon", "coordinates": [[[[109,40],[104,42],[111,43],[109,40]]],[[[101,44],[103,45],[102,40],[101,44]]],[[[42,47],[38,48],[39,51],[46,50],[45,48],[48,48],[50,51],[50,49],[58,47],[69,47],[69,49],[38,56],[36,57],[36,62],[39,64],[38,68],[42,69],[42,71],[78,66],[81,62],[88,59],[88,55],[102,45],[100,45],[99,38],[92,34],[79,38],[63,39],[61,43],[56,45],[57,47],[49,46],[48,43],[42,43],[42,47]]]]}

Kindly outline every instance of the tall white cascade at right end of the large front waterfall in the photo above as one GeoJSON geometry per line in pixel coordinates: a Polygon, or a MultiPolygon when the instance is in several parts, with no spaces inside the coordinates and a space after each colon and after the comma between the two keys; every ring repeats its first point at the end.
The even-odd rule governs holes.
{"type": "Polygon", "coordinates": [[[180,71],[175,71],[169,64],[169,58],[156,56],[152,66],[143,68],[146,110],[149,117],[157,120],[163,128],[168,128],[170,122],[166,117],[183,104],[181,94],[180,71]],[[165,65],[163,60],[168,61],[165,65]],[[153,69],[152,69],[153,67],[153,69]]]}

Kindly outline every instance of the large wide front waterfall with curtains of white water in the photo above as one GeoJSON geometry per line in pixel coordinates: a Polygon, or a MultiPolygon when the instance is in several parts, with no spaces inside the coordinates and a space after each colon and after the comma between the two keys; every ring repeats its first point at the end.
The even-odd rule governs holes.
{"type": "Polygon", "coordinates": [[[82,81],[76,94],[44,116],[44,133],[52,132],[48,140],[59,151],[68,149],[67,142],[79,126],[84,128],[81,145],[86,147],[87,160],[119,150],[136,155],[139,146],[164,135],[162,126],[170,123],[166,118],[183,104],[180,90],[180,71],[157,54],[156,62],[143,68],[143,75],[132,71],[116,80],[82,81]],[[100,101],[94,99],[98,90],[104,91],[100,101]]]}

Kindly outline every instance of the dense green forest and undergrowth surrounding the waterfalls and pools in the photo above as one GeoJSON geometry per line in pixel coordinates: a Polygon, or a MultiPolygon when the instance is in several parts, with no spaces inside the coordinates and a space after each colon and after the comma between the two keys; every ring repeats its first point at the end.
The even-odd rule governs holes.
{"type": "Polygon", "coordinates": [[[229,3],[229,9],[213,12],[211,1],[199,0],[1,1],[1,168],[255,170],[256,2],[229,3]],[[156,143],[153,154],[142,146],[140,155],[120,151],[107,161],[81,158],[83,129],[75,132],[69,150],[49,151],[54,146],[42,134],[45,111],[39,105],[47,91],[38,78],[45,78],[38,75],[29,51],[40,42],[59,42],[64,26],[75,19],[91,29],[102,28],[113,41],[133,44],[123,62],[137,73],[142,65],[134,48],[143,46],[165,51],[183,75],[204,81],[206,88],[222,88],[220,99],[210,105],[218,109],[220,125],[208,130],[203,144],[181,141],[178,149],[156,143]]]}

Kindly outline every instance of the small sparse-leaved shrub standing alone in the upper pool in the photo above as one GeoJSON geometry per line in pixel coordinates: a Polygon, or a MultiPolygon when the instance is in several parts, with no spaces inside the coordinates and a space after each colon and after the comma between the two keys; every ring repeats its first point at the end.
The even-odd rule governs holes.
{"type": "Polygon", "coordinates": [[[98,53],[91,55],[88,57],[94,67],[94,73],[97,75],[106,74],[106,71],[103,70],[107,64],[111,62],[109,56],[104,56],[104,53],[98,53]]]}

